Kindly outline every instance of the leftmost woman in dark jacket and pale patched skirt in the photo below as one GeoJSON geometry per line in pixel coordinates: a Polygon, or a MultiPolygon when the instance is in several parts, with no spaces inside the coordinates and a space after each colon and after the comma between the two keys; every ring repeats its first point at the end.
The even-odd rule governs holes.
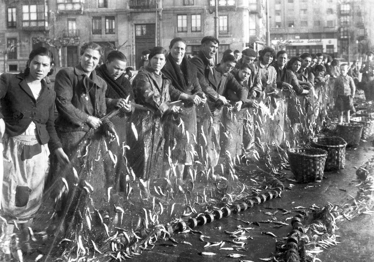
{"type": "MultiPolygon", "coordinates": [[[[3,223],[5,235],[1,242],[7,255],[13,223],[22,227],[21,243],[28,241],[27,227],[41,205],[49,150],[61,164],[69,162],[55,130],[56,94],[44,80],[52,68],[52,52],[41,47],[31,51],[25,73],[0,77],[0,127],[5,125],[1,216],[8,222],[3,223]]],[[[30,246],[25,243],[23,248],[30,246]]]]}

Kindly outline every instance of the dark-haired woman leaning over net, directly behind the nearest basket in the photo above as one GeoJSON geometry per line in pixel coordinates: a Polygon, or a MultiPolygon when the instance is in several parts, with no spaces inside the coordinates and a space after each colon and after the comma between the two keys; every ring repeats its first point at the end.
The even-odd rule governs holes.
{"type": "Polygon", "coordinates": [[[298,131],[297,125],[301,123],[301,117],[305,114],[300,100],[304,100],[304,95],[309,94],[309,90],[304,89],[300,86],[296,73],[300,70],[302,60],[299,57],[292,57],[286,66],[286,73],[283,76],[282,82],[289,83],[292,86],[292,90],[295,94],[290,91],[285,91],[286,101],[288,101],[287,115],[291,123],[292,133],[295,135],[298,131]]]}

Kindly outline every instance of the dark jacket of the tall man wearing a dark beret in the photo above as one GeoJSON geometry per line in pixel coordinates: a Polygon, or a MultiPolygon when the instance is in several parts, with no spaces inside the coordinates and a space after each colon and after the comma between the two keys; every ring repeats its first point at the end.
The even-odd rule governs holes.
{"type": "Polygon", "coordinates": [[[206,58],[202,51],[196,57],[191,58],[191,63],[196,65],[197,79],[202,91],[213,101],[218,99],[217,87],[220,82],[214,73],[214,64],[206,58]]]}

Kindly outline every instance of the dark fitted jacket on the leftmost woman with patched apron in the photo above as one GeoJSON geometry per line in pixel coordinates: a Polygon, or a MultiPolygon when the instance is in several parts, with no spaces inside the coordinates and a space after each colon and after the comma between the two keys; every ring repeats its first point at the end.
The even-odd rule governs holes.
{"type": "Polygon", "coordinates": [[[39,144],[49,144],[51,152],[61,143],[55,130],[55,92],[43,79],[42,90],[35,100],[25,80],[25,74],[2,74],[0,76],[0,117],[5,122],[5,132],[9,136],[20,135],[31,121],[36,125],[39,144]]]}

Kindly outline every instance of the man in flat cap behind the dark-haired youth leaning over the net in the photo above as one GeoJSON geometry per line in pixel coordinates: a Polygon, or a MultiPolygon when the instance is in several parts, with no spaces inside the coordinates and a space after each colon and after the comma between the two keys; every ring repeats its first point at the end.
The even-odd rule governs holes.
{"type": "MultiPolygon", "coordinates": [[[[244,49],[242,51],[242,58],[237,61],[235,68],[233,69],[232,73],[236,74],[242,64],[253,64],[255,59],[257,57],[256,51],[254,51],[251,48],[244,49]]],[[[251,71],[251,76],[248,79],[248,87],[249,87],[249,93],[248,98],[256,98],[260,97],[262,93],[262,83],[260,79],[260,75],[258,74],[257,70],[251,71]]]]}

